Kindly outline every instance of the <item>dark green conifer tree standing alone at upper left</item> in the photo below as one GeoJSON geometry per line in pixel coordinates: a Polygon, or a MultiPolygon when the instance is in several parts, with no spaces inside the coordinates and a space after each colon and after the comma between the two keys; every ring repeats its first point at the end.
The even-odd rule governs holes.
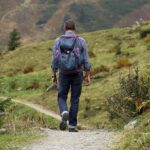
{"type": "Polygon", "coordinates": [[[15,50],[17,47],[20,46],[21,36],[17,29],[13,29],[12,32],[9,34],[9,41],[8,41],[8,50],[15,50]]]}

